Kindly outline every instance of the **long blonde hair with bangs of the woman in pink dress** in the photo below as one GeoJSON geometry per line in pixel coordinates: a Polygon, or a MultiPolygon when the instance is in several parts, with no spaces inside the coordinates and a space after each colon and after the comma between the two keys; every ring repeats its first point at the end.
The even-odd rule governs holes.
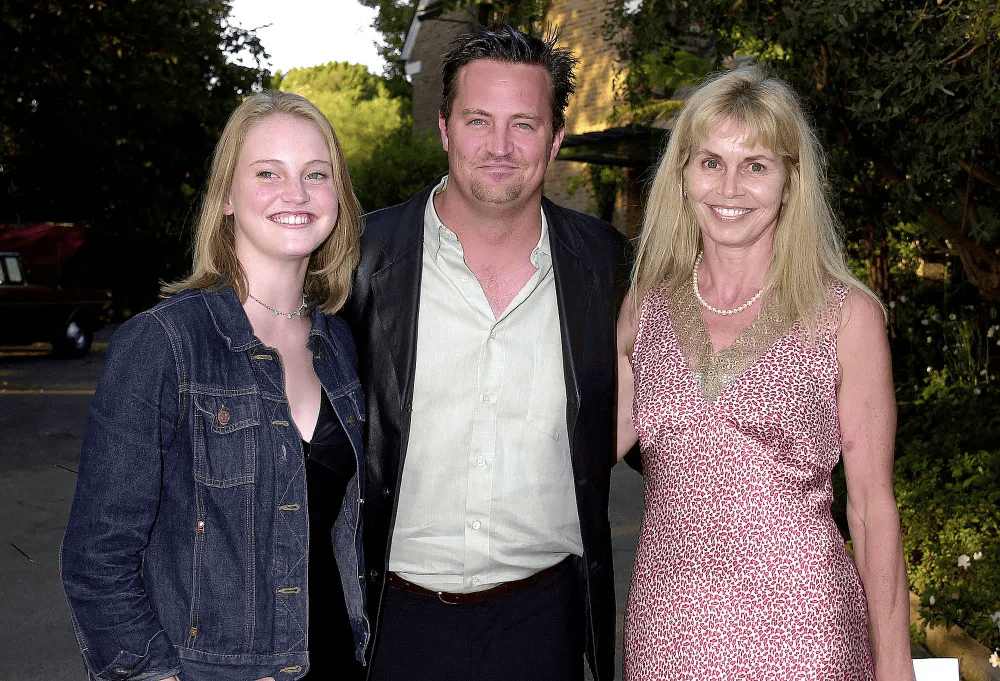
{"type": "Polygon", "coordinates": [[[816,318],[827,305],[832,279],[871,294],[844,261],[840,226],[824,192],[826,159],[798,97],[784,81],[748,66],[710,78],[674,123],[646,203],[632,275],[633,302],[640,305],[654,286],[666,283],[673,291],[691,277],[702,243],[684,197],[684,169],[695,145],[729,118],[749,128],[747,144],[760,142],[781,159],[788,178],[764,281],[775,311],[787,320],[816,318]]]}

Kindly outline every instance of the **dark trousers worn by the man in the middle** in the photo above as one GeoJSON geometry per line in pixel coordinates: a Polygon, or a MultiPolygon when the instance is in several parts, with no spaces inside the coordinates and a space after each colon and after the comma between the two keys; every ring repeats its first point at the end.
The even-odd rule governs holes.
{"type": "Polygon", "coordinates": [[[370,681],[581,681],[582,590],[570,561],[478,605],[389,588],[370,681]]]}

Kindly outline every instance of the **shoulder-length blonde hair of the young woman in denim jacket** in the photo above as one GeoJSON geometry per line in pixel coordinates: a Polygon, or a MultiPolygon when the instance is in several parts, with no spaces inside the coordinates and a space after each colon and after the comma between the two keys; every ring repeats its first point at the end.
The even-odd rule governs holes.
{"type": "Polygon", "coordinates": [[[246,273],[236,257],[235,220],[232,215],[225,214],[224,206],[248,131],[278,113],[299,116],[314,123],[330,149],[339,212],[333,232],[309,257],[305,292],[311,304],[327,314],[343,307],[350,293],[351,275],[358,264],[358,237],[361,234],[361,208],[354,196],[344,152],[330,121],[315,104],[301,95],[277,90],[251,95],[229,117],[212,158],[212,171],[195,229],[191,274],[181,281],[165,284],[161,289],[163,295],[185,289],[232,286],[240,300],[246,301],[249,291],[246,273]]]}

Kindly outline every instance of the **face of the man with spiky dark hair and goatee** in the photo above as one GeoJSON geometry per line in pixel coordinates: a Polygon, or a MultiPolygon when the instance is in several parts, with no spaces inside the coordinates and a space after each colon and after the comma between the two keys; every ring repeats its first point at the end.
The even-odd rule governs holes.
{"type": "Polygon", "coordinates": [[[478,59],[458,72],[455,92],[450,118],[438,117],[448,188],[494,205],[540,194],[564,133],[552,131],[545,68],[478,59]]]}

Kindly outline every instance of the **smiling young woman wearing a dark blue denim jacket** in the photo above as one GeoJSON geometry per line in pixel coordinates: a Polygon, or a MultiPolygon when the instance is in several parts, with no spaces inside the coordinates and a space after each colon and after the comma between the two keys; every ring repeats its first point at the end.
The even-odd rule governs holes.
{"type": "Polygon", "coordinates": [[[61,563],[94,678],[360,668],[364,408],[332,316],[358,234],[323,114],[247,99],[215,151],[193,273],[117,331],[90,409],[61,563]]]}

